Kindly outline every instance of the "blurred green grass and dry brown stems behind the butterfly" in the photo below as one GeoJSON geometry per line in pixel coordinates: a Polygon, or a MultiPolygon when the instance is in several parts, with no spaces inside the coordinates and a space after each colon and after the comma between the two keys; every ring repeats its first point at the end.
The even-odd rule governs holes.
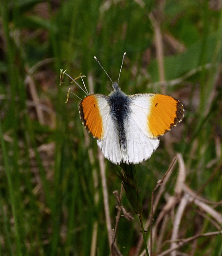
{"type": "MultiPolygon", "coordinates": [[[[85,95],[66,76],[59,86],[59,70],[108,94],[93,56],[115,81],[125,51],[124,92],[166,93],[185,107],[136,166],[150,241],[151,194],[177,155],[154,193],[153,255],[221,255],[221,43],[221,0],[1,0],[0,255],[110,255],[121,181],[83,128],[79,99],[65,104],[71,86],[85,95]]],[[[117,248],[144,255],[125,193],[121,204],[134,219],[120,219],[117,248]]]]}

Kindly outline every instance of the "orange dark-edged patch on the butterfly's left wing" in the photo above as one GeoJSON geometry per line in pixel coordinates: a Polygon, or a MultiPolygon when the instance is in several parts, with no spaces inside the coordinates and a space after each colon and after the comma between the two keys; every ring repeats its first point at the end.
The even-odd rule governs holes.
{"type": "Polygon", "coordinates": [[[103,137],[102,116],[94,95],[85,97],[79,104],[79,114],[83,125],[97,139],[103,137]]]}

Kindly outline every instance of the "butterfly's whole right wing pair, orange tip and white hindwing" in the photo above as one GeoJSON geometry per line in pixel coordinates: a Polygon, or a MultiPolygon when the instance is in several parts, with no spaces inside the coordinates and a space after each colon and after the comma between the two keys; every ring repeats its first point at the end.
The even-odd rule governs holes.
{"type": "Polygon", "coordinates": [[[149,159],[159,146],[158,137],[182,120],[184,109],[178,100],[166,95],[143,93],[129,98],[127,154],[129,163],[138,164],[149,159]]]}

